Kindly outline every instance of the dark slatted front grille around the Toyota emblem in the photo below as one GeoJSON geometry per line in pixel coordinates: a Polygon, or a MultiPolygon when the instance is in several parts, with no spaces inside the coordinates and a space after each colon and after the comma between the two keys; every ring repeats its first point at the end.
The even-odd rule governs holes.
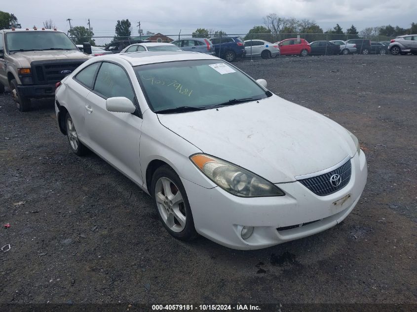
{"type": "Polygon", "coordinates": [[[319,196],[325,196],[339,191],[349,183],[350,175],[352,173],[352,165],[350,159],[341,165],[338,169],[335,169],[329,173],[313,176],[307,179],[299,180],[306,188],[311,192],[319,196]],[[339,174],[341,176],[341,183],[338,186],[333,186],[330,183],[330,178],[333,174],[339,174]]]}

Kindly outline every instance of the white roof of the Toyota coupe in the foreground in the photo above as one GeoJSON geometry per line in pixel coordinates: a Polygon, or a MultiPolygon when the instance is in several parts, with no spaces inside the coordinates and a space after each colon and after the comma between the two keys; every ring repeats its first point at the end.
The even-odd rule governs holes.
{"type": "Polygon", "coordinates": [[[190,61],[190,60],[219,60],[222,59],[205,53],[186,52],[186,51],[149,51],[149,52],[131,52],[121,54],[111,54],[101,56],[102,60],[117,60],[119,58],[126,60],[132,66],[146,65],[153,63],[190,61]]]}

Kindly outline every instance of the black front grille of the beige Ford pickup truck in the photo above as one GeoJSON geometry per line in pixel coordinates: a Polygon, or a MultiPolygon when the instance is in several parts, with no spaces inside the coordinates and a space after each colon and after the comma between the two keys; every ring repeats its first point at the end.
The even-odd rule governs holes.
{"type": "Polygon", "coordinates": [[[52,84],[61,81],[68,73],[61,73],[63,70],[73,72],[85,60],[50,60],[34,61],[31,63],[32,75],[35,84],[52,84]]]}

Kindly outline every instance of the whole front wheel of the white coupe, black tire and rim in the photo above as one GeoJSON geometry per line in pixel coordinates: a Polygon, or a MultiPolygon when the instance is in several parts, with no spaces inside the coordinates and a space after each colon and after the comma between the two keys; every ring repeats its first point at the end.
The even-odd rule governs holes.
{"type": "Polygon", "coordinates": [[[159,219],[171,236],[185,242],[198,236],[184,185],[168,165],[153,173],[151,195],[159,219]]]}

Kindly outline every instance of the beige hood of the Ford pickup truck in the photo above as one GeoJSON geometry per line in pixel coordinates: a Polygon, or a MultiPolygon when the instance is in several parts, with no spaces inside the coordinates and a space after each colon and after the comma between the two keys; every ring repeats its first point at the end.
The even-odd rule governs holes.
{"type": "Polygon", "coordinates": [[[48,51],[26,51],[13,53],[13,58],[20,62],[22,68],[31,67],[33,61],[46,60],[68,60],[80,59],[87,60],[92,56],[78,50],[48,50],[48,51]]]}

